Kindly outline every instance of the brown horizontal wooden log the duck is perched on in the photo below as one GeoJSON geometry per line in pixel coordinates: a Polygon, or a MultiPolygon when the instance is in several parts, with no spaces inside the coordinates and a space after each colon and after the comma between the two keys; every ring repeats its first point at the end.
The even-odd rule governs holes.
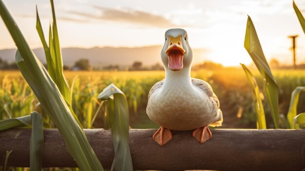
{"type": "MultiPolygon", "coordinates": [[[[130,130],[133,167],[137,170],[301,171],[305,168],[305,130],[211,130],[212,139],[200,144],[191,131],[173,131],[163,147],[152,141],[156,130],[130,130]]],[[[114,150],[111,131],[85,130],[104,168],[114,150]]],[[[8,166],[29,167],[30,129],[0,132],[0,165],[13,150],[8,166]]],[[[44,130],[43,167],[77,167],[55,129],[44,130]]]]}

